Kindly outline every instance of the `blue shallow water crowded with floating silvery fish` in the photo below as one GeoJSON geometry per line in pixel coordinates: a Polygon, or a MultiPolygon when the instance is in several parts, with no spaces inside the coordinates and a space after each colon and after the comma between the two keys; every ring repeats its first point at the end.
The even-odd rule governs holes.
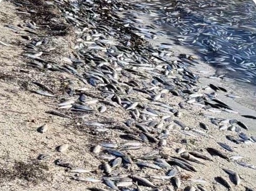
{"type": "Polygon", "coordinates": [[[175,44],[195,50],[221,69],[218,74],[256,85],[253,1],[139,1],[134,7],[137,18],[147,16],[175,44]]]}

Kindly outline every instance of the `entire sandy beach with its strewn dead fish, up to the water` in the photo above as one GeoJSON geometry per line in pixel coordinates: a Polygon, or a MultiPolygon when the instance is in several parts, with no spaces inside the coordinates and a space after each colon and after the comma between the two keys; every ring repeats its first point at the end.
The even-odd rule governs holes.
{"type": "MultiPolygon", "coordinates": [[[[129,8],[113,2],[119,10],[129,8]]],[[[40,12],[37,8],[22,5],[16,15],[16,6],[6,1],[0,4],[1,42],[4,43],[0,50],[3,104],[0,184],[3,190],[125,190],[123,187],[136,189],[136,182],[145,190],[171,190],[175,186],[179,190],[200,187],[227,190],[217,176],[227,180],[232,190],[256,187],[255,167],[238,164],[240,161],[256,165],[256,143],[238,136],[239,133],[256,136],[256,120],[223,109],[205,109],[203,101],[212,103],[211,94],[215,92],[208,85],[226,88],[225,83],[207,78],[213,74],[211,66],[195,59],[185,48],[171,45],[172,48],[159,49],[157,43],[164,41],[157,35],[158,39],[151,42],[139,38],[132,31],[135,24],[121,23],[117,18],[118,21],[111,21],[112,10],[106,12],[111,24],[103,26],[103,21],[108,21],[103,18],[106,15],[101,15],[103,21],[96,12],[86,15],[85,10],[77,10],[72,1],[59,4],[42,1],[40,6],[46,11],[40,13],[40,19],[34,20],[34,24],[29,19],[34,14],[32,10],[40,12]],[[70,11],[60,12],[58,6],[70,11]],[[30,15],[26,14],[27,9],[30,15]],[[46,13],[52,14],[55,26],[48,23],[46,13]],[[84,16],[90,16],[91,20],[86,21],[84,16]],[[130,42],[128,48],[122,45],[125,38],[126,43],[130,42]],[[147,46],[148,42],[159,51],[147,46]],[[181,57],[184,53],[189,59],[181,57]],[[182,63],[186,61],[195,67],[187,68],[182,63]],[[184,75],[190,79],[184,80],[184,75]],[[238,124],[230,128],[226,119],[245,123],[249,131],[239,128],[238,124]],[[207,129],[200,128],[200,123],[207,129]],[[44,124],[48,128],[42,128],[44,124]],[[227,128],[219,130],[221,125],[227,128]],[[229,141],[228,135],[236,137],[241,144],[229,141]],[[228,144],[234,151],[227,151],[217,142],[228,144]],[[183,155],[176,152],[180,148],[184,149],[183,155]],[[211,155],[208,148],[218,149],[228,157],[211,155]],[[192,162],[184,155],[188,152],[199,152],[212,161],[196,158],[204,164],[192,162]],[[238,155],[243,158],[234,160],[238,155]],[[182,165],[173,157],[179,157],[179,162],[182,157],[196,170],[177,167],[182,165]],[[122,162],[111,168],[117,158],[122,162]],[[159,158],[161,160],[157,160],[159,158]],[[153,165],[162,160],[168,161],[171,167],[153,165]],[[238,173],[241,183],[235,185],[223,168],[238,173]],[[78,175],[72,173],[72,169],[78,175]],[[77,169],[84,171],[80,173],[77,169]],[[163,176],[173,169],[177,170],[174,180],[164,180],[163,176]],[[137,176],[150,183],[138,181],[137,176]]],[[[98,11],[96,6],[101,11],[110,9],[106,2],[95,3],[92,12],[98,11]]],[[[228,93],[218,90],[215,98],[232,111],[256,116],[256,111],[225,97],[228,93]]]]}

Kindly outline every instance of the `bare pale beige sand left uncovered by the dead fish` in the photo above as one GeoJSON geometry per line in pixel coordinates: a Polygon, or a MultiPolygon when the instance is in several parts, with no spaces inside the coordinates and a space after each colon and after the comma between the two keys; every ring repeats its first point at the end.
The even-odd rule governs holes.
{"type": "MultiPolygon", "coordinates": [[[[102,171],[98,169],[101,160],[95,154],[92,154],[90,148],[98,143],[113,142],[122,144],[119,133],[114,130],[109,130],[101,134],[94,133],[90,128],[80,125],[84,120],[90,121],[104,121],[104,120],[118,120],[125,121],[129,119],[129,115],[123,108],[108,107],[106,113],[95,113],[90,116],[85,114],[82,119],[70,120],[46,114],[45,111],[56,108],[56,104],[60,100],[58,98],[48,98],[37,94],[33,94],[28,90],[33,89],[32,81],[41,81],[49,85],[54,91],[65,90],[65,84],[60,82],[60,79],[73,78],[72,75],[44,71],[40,72],[36,69],[26,68],[25,61],[22,54],[22,43],[26,40],[22,39],[19,34],[14,33],[9,28],[4,27],[5,24],[24,23],[24,20],[15,14],[15,6],[11,3],[3,1],[0,4],[0,32],[1,41],[9,44],[9,46],[0,45],[0,185],[3,191],[7,190],[86,190],[86,187],[97,185],[98,187],[107,188],[106,185],[100,183],[84,183],[77,182],[71,179],[72,173],[65,172],[65,168],[59,167],[54,164],[56,159],[65,159],[77,167],[95,170],[82,176],[100,178],[102,171]],[[37,128],[48,124],[48,132],[41,134],[37,132],[37,128]],[[69,144],[69,148],[63,152],[57,152],[55,148],[62,144],[69,144]],[[50,158],[43,161],[38,161],[39,154],[50,154],[50,158]]],[[[53,53],[55,60],[72,53],[74,46],[74,37],[52,37],[52,46],[59,46],[62,49],[61,53],[53,53]]],[[[177,55],[182,53],[185,49],[177,47],[177,55]]],[[[187,50],[185,50],[187,51],[187,50]]],[[[208,83],[222,84],[219,81],[213,81],[206,77],[213,72],[211,67],[201,65],[202,70],[207,70],[209,74],[202,74],[200,85],[205,87],[208,83]]],[[[201,69],[193,69],[200,71],[201,69]]],[[[76,87],[84,86],[76,81],[76,87]]],[[[89,91],[93,92],[91,86],[87,86],[89,91]]],[[[209,91],[212,92],[212,91],[209,91]]],[[[56,92],[56,93],[62,93],[56,92]]],[[[207,91],[205,92],[207,93],[207,91]]],[[[231,98],[225,98],[223,93],[218,93],[221,100],[228,101],[228,105],[232,105],[239,112],[243,114],[251,114],[256,116],[255,111],[248,110],[247,108],[238,105],[231,98]]],[[[141,101],[145,100],[143,97],[138,98],[141,101]]],[[[173,97],[167,95],[170,105],[179,108],[178,103],[182,101],[180,97],[173,97]]],[[[96,105],[91,105],[92,108],[97,108],[96,105]]],[[[228,143],[234,146],[235,152],[226,154],[228,156],[241,155],[244,157],[243,161],[256,165],[256,144],[240,144],[236,145],[227,141],[226,134],[234,134],[234,132],[219,131],[217,126],[213,125],[209,119],[206,119],[203,114],[207,113],[200,107],[187,105],[186,109],[181,109],[182,117],[179,118],[184,124],[191,128],[199,129],[199,122],[204,122],[210,127],[210,131],[206,136],[188,137],[179,133],[179,128],[174,126],[171,130],[171,135],[167,139],[167,146],[158,148],[157,146],[144,144],[145,149],[129,151],[131,156],[144,155],[147,152],[154,150],[161,150],[161,153],[166,156],[177,155],[175,150],[180,147],[186,147],[187,150],[201,150],[206,147],[215,147],[220,149],[216,142],[228,143]],[[190,143],[182,144],[182,139],[189,139],[190,143]]],[[[246,122],[253,131],[248,134],[255,133],[255,120],[241,118],[239,114],[231,113],[208,113],[216,117],[239,119],[246,122]],[[253,127],[254,126],[254,127],[253,127]]],[[[178,119],[178,118],[177,118],[178,119]]],[[[207,155],[207,153],[204,151],[207,155]]],[[[223,176],[227,180],[228,175],[222,168],[237,171],[241,176],[241,184],[234,186],[232,190],[244,190],[243,186],[256,188],[256,170],[243,168],[235,162],[228,162],[219,157],[214,157],[213,162],[205,162],[206,165],[194,164],[197,172],[190,173],[182,171],[183,175],[181,188],[186,185],[196,185],[190,179],[203,179],[208,183],[205,184],[207,190],[227,190],[222,185],[214,181],[214,177],[223,176]]],[[[131,169],[122,168],[122,173],[127,174],[161,174],[161,172],[153,169],[139,170],[132,165],[131,169]]],[[[156,185],[165,186],[170,184],[168,181],[153,181],[156,185]]],[[[229,181],[230,182],[230,181],[229,181]]],[[[201,183],[202,184],[202,183],[201,183]]],[[[144,188],[148,190],[148,188],[144,188]]]]}

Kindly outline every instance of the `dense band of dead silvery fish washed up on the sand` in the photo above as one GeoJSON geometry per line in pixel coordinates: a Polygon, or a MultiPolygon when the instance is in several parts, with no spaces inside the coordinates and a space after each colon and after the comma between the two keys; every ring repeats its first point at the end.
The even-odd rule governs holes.
{"type": "MultiPolygon", "coordinates": [[[[28,21],[22,27],[6,27],[27,32],[26,35],[22,34],[29,41],[24,48],[26,67],[41,72],[67,73],[72,75],[72,78],[63,79],[67,84],[65,91],[53,90],[52,87],[37,81],[31,82],[33,89],[30,91],[59,101],[55,109],[46,113],[68,118],[70,121],[79,119],[80,125],[89,131],[97,132],[102,139],[111,132],[122,140],[122,143],[96,143],[95,140],[96,144],[91,148],[91,152],[96,159],[102,161],[100,173],[92,169],[77,168],[71,162],[56,159],[54,164],[71,173],[74,181],[94,182],[95,187],[87,188],[89,190],[106,190],[100,184],[103,183],[114,190],[142,190],[141,186],[144,186],[145,190],[182,188],[192,191],[207,190],[207,186],[204,186],[206,181],[193,180],[184,172],[199,171],[196,165],[200,165],[200,169],[203,168],[215,160],[213,156],[256,170],[253,164],[239,160],[242,157],[230,156],[234,148],[226,143],[219,142],[219,148],[207,146],[197,151],[177,148],[176,154],[172,156],[166,156],[162,151],[163,147],[169,145],[172,133],[176,133],[177,140],[178,137],[187,137],[179,140],[184,142],[184,145],[191,144],[188,137],[195,141],[197,138],[209,136],[211,128],[205,123],[201,122],[198,127],[191,128],[182,122],[183,111],[189,107],[201,107],[209,112],[237,112],[217,98],[216,92],[227,92],[224,87],[214,84],[204,88],[199,86],[200,77],[190,70],[190,67],[200,64],[199,59],[187,54],[172,59],[170,44],[159,43],[153,46],[149,40],[145,40],[157,39],[158,36],[166,34],[157,31],[154,26],[143,28],[136,16],[125,14],[127,10],[136,7],[135,4],[118,0],[55,0],[45,1],[44,4],[46,7],[57,7],[64,18],[63,22],[68,23],[75,31],[74,55],[63,57],[59,62],[47,57],[51,54],[51,47],[48,47],[50,37],[40,35],[39,27],[34,21],[28,21]],[[125,18],[120,16],[122,12],[126,15],[125,18]],[[155,32],[148,32],[147,28],[152,28],[155,32]],[[76,88],[77,81],[84,85],[76,88]],[[117,114],[124,116],[123,121],[115,115],[111,116],[109,121],[97,121],[105,112],[116,108],[122,112],[117,114]],[[130,153],[144,150],[146,147],[154,150],[143,155],[130,153]],[[146,171],[140,169],[153,170],[150,172],[154,174],[146,174],[146,171]],[[94,177],[91,174],[94,174],[94,177]]],[[[29,14],[37,14],[30,9],[29,2],[19,2],[16,5],[29,14]]],[[[49,22],[57,24],[60,20],[51,18],[49,22]]],[[[44,24],[47,25],[47,21],[44,24]]],[[[227,96],[232,97],[228,93],[227,96]]],[[[219,131],[226,133],[223,136],[229,141],[238,145],[255,144],[256,137],[245,133],[249,128],[241,121],[215,118],[208,114],[205,117],[218,127],[219,131]]],[[[39,133],[47,131],[47,124],[38,128],[39,133]]],[[[56,150],[65,152],[68,148],[68,144],[63,144],[56,150]]],[[[45,160],[49,156],[40,154],[38,159],[45,160]]],[[[236,171],[226,168],[223,171],[227,176],[216,175],[216,182],[228,189],[241,183],[236,171]]],[[[247,186],[245,189],[252,190],[247,186]]]]}

